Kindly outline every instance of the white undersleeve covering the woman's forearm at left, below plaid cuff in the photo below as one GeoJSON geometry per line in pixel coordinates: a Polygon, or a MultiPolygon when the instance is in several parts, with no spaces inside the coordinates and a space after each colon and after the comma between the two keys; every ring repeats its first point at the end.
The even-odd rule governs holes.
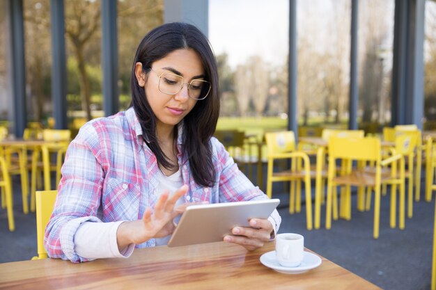
{"type": "Polygon", "coordinates": [[[134,243],[126,248],[118,250],[116,232],[123,223],[91,223],[85,222],[80,225],[75,234],[75,252],[80,257],[88,260],[102,258],[127,258],[132,255],[134,243]]]}

